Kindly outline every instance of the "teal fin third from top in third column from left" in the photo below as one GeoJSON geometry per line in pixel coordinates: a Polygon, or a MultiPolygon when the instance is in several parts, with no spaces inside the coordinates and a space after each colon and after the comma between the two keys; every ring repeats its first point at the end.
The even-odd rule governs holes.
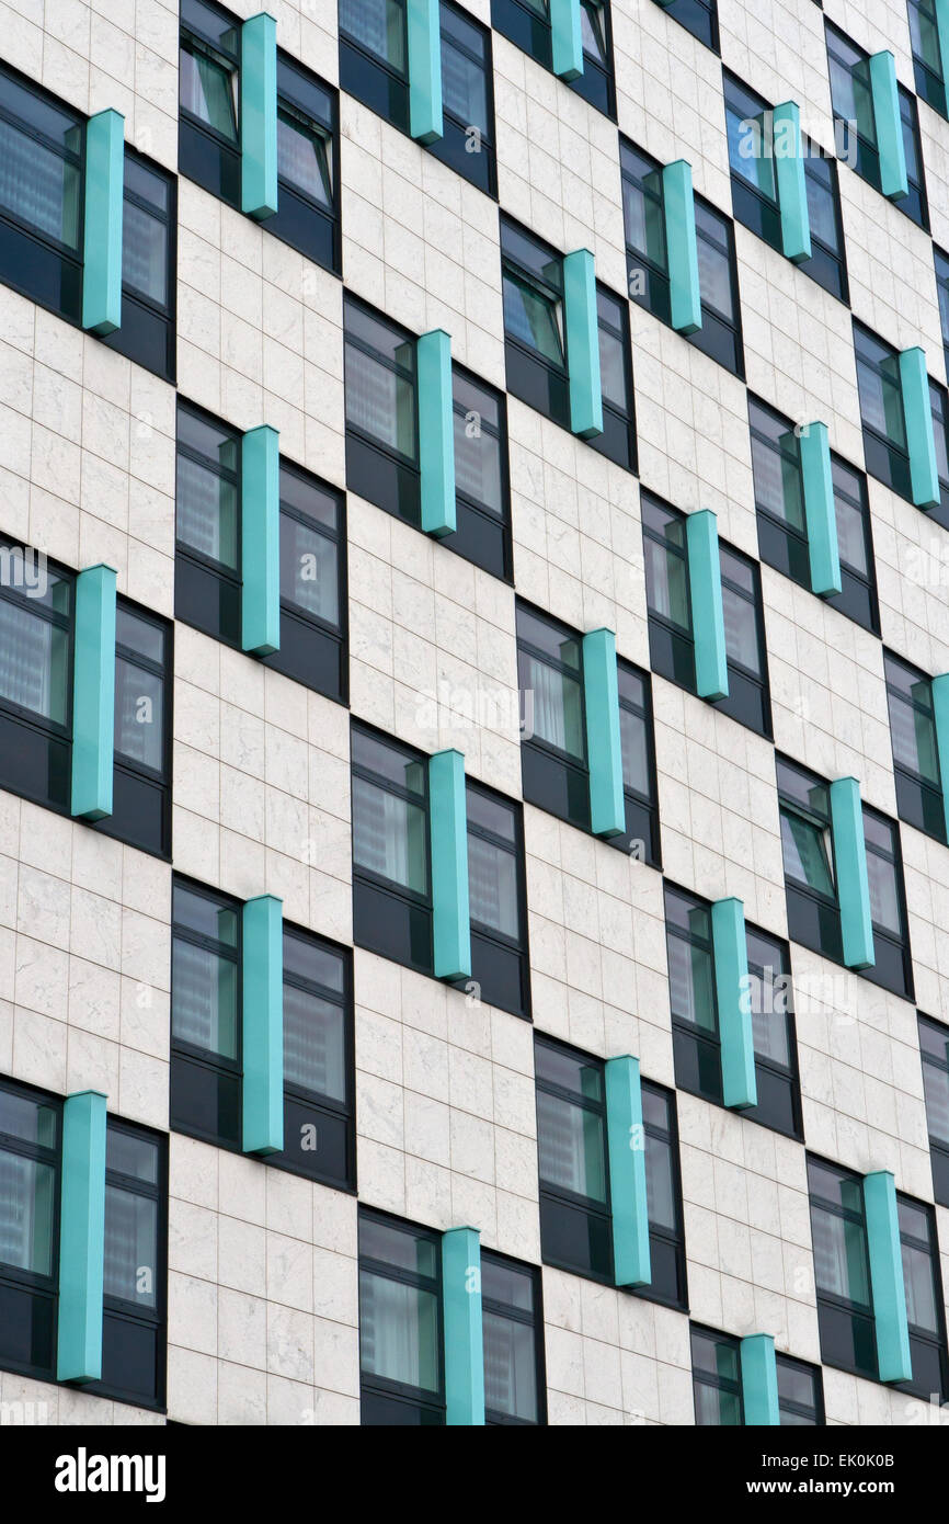
{"type": "Polygon", "coordinates": [[[471,978],[468,802],[460,751],[436,751],[428,759],[428,812],[434,975],[471,978]]]}

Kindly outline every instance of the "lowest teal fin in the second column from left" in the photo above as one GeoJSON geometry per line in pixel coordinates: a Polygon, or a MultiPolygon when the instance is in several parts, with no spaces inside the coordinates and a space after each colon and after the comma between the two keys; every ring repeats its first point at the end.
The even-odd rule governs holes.
{"type": "Polygon", "coordinates": [[[244,905],[242,1047],[245,1154],[283,1149],[283,901],[244,905]]]}

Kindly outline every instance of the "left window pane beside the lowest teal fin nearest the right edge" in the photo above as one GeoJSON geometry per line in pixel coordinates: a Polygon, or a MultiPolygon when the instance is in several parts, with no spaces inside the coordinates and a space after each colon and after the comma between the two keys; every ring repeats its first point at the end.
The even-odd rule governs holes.
{"type": "Polygon", "coordinates": [[[809,1158],[807,1189],[821,1359],[876,1379],[864,1183],[838,1164],[809,1158]]]}

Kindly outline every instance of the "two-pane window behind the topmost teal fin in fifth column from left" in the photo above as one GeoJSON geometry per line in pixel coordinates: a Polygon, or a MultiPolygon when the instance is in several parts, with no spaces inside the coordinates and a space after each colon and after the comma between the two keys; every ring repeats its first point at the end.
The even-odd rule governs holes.
{"type": "MultiPolygon", "coordinates": [[[[653,317],[670,323],[663,166],[632,143],[620,140],[620,168],[629,296],[653,317]]],[[[734,229],[727,216],[696,195],[695,232],[702,326],[682,337],[743,381],[734,229]]]]}

